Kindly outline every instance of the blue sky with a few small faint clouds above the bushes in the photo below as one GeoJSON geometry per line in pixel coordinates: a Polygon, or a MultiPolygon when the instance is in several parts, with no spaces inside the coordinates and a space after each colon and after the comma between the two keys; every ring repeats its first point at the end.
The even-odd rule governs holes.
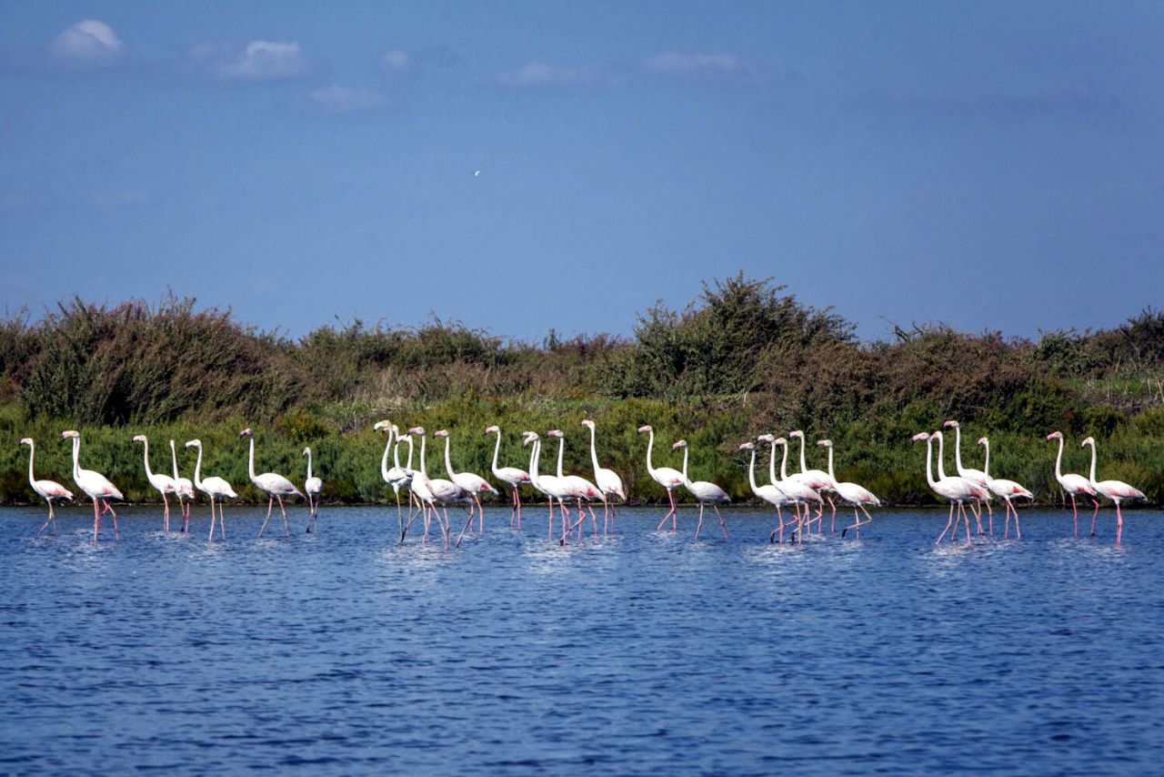
{"type": "Polygon", "coordinates": [[[894,324],[1164,288],[1164,3],[0,0],[0,308],[632,333],[772,277],[894,324]]]}

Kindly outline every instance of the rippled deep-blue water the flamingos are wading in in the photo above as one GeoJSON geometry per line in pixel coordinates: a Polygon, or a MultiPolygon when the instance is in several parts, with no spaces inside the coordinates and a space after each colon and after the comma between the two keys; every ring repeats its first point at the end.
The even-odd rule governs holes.
{"type": "Polygon", "coordinates": [[[487,515],[445,552],[393,509],[226,543],[126,508],[0,511],[0,772],[1158,772],[1164,521],[1124,546],[1023,511],[1023,541],[935,549],[944,511],[863,539],[625,510],[565,549],[487,515]],[[104,528],[105,522],[102,522],[104,528]]]}

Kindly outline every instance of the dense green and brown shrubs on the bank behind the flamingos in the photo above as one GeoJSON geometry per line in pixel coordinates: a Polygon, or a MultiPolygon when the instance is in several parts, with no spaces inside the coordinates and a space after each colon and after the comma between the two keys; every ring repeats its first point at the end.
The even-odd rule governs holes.
{"type": "MultiPolygon", "coordinates": [[[[1093,435],[1100,478],[1127,480],[1159,503],[1164,315],[1145,310],[1113,330],[1046,332],[1037,341],[927,325],[863,344],[830,309],[739,275],[704,284],[683,310],[648,308],[630,339],[563,340],[552,331],[540,344],[505,341],[434,318],[411,329],[355,320],[293,341],[172,296],[156,306],[73,299],[38,320],[24,311],[0,320],[6,502],[33,499],[27,452],[16,444],[24,436],[40,443],[38,475],[71,482],[70,448],[58,442],[66,428],[83,430],[87,466],[129,499],[152,497],[141,448],[129,442],[135,433],[150,437],[156,471],[169,471],[168,440],[176,439],[186,475],[193,457],[180,445],[200,437],[204,471],[256,499],[237,437],[253,426],[261,471],[301,480],[300,452],[311,445],[327,497],[377,501],[385,499],[384,440],[371,426],[381,418],[448,428],[454,465],[480,473],[492,455],[488,424],[505,432],[503,464],[521,466],[527,451],[517,432],[560,426],[569,437],[567,467],[585,474],[583,417],[598,424],[599,458],[640,500],[662,495],[634,431],[651,423],[656,464],[677,464],[669,444],[686,437],[693,478],[733,496],[747,494],[740,442],[804,429],[810,440],[836,442],[838,476],[892,502],[928,502],[924,452],[909,437],[957,418],[972,466],[981,466],[974,442],[987,435],[992,473],[1024,482],[1043,501],[1060,499],[1055,448],[1044,439],[1059,429],[1070,440],[1065,471],[1086,472],[1078,443],[1093,435]]],[[[552,452],[547,445],[544,459],[552,452]]],[[[808,455],[809,466],[824,467],[818,450],[808,455]]],[[[430,459],[430,472],[441,468],[440,451],[430,459]]]]}

